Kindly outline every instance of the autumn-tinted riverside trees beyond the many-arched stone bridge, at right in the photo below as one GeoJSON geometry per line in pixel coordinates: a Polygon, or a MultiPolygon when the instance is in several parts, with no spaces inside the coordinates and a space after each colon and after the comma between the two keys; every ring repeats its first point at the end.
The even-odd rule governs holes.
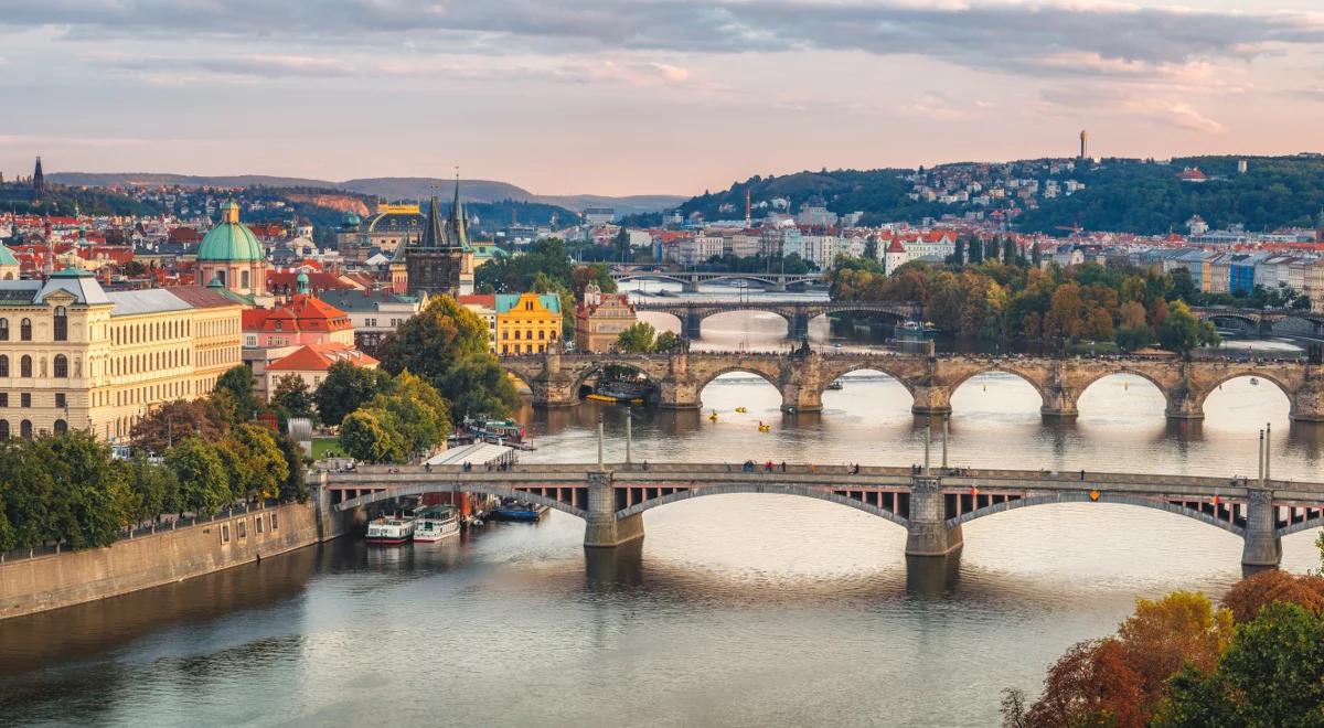
{"type": "Polygon", "coordinates": [[[886,275],[862,258],[838,258],[833,300],[914,300],[924,318],[957,336],[1026,339],[1066,347],[1110,343],[1123,351],[1153,344],[1189,352],[1217,345],[1209,322],[1190,312],[1198,293],[1185,269],[1161,273],[1094,262],[1063,269],[1004,257],[965,265],[911,262],[886,275]]]}

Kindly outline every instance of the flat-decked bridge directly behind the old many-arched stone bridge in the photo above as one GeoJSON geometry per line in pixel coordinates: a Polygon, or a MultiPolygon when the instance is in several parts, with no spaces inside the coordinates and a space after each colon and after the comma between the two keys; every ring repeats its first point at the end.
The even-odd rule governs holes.
{"type": "Polygon", "coordinates": [[[809,335],[809,322],[828,314],[858,312],[882,314],[898,320],[920,320],[924,307],[910,302],[855,300],[646,300],[634,304],[636,311],[658,311],[681,319],[681,332],[686,339],[698,339],[703,319],[730,311],[768,311],[786,319],[786,338],[800,340],[809,335]]]}

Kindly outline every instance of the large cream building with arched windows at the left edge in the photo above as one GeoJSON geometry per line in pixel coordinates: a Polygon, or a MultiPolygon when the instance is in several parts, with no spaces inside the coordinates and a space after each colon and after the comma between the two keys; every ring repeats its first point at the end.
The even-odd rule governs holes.
{"type": "Polygon", "coordinates": [[[126,441],[152,406],[208,394],[241,363],[241,308],[199,286],[107,294],[78,269],[0,281],[0,439],[126,441]]]}

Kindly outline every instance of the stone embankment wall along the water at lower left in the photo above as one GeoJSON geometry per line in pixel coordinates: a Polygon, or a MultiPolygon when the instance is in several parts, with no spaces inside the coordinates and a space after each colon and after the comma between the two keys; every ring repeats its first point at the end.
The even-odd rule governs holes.
{"type": "Polygon", "coordinates": [[[319,502],[0,564],[0,619],[183,581],[335,539],[352,527],[352,515],[319,514],[319,502]]]}

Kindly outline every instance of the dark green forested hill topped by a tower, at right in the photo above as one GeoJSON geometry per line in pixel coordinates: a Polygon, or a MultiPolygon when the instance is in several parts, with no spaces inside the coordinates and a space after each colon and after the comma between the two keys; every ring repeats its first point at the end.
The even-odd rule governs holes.
{"type": "Polygon", "coordinates": [[[831,212],[863,212],[866,225],[919,222],[925,217],[988,213],[1014,205],[1022,212],[1013,224],[1026,232],[1062,234],[1059,228],[1080,225],[1087,230],[1161,234],[1185,230],[1193,214],[1213,228],[1241,224],[1249,230],[1267,230],[1312,225],[1324,210],[1324,156],[1198,156],[1162,163],[1104,159],[1099,164],[1041,159],[928,169],[824,169],[756,176],[722,192],[706,192],[681,209],[686,214],[703,213],[707,220],[739,218],[744,214],[747,189],[755,217],[772,209],[779,199],[788,200],[796,212],[805,201],[821,196],[831,212]],[[1246,173],[1238,172],[1241,159],[1247,160],[1246,173]],[[1182,181],[1178,175],[1186,168],[1201,169],[1207,181],[1182,181]],[[1038,185],[1035,193],[1025,191],[1023,183],[1030,180],[1038,185]],[[1067,195],[1068,181],[1084,187],[1067,195]],[[1055,197],[1045,193],[1050,183],[1058,187],[1055,197]],[[988,204],[973,201],[997,189],[1002,199],[994,192],[988,204]],[[970,201],[929,201],[924,191],[935,195],[965,191],[970,201]],[[919,199],[911,199],[911,193],[919,193],[919,199]]]}

